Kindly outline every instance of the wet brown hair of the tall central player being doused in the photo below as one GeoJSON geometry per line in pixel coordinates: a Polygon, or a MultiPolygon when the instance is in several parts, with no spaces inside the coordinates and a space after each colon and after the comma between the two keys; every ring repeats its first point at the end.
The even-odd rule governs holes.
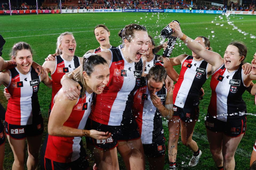
{"type": "Polygon", "coordinates": [[[129,42],[134,38],[134,31],[147,31],[146,28],[138,24],[129,24],[125,28],[119,31],[118,36],[124,40],[127,39],[129,42]]]}

